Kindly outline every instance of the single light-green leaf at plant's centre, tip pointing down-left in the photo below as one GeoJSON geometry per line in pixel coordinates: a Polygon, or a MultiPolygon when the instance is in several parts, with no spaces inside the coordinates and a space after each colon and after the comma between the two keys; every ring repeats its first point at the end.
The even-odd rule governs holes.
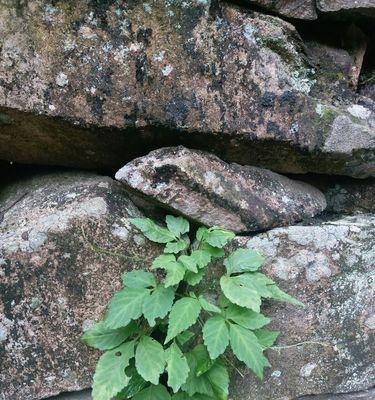
{"type": "Polygon", "coordinates": [[[185,297],[176,301],[169,314],[168,334],[165,343],[194,325],[201,312],[198,300],[185,297]]]}

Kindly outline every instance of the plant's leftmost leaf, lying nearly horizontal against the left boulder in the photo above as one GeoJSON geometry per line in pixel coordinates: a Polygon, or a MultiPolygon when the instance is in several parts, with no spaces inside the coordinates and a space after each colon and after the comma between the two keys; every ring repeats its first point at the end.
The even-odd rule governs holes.
{"type": "Polygon", "coordinates": [[[118,329],[108,329],[104,321],[96,323],[85,332],[81,340],[88,346],[99,350],[111,350],[119,346],[137,330],[137,325],[131,322],[128,326],[118,329]]]}

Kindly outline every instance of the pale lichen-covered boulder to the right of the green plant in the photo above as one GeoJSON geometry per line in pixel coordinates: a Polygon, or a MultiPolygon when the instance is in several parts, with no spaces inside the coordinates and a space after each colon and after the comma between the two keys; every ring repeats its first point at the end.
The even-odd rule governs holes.
{"type": "Polygon", "coordinates": [[[278,228],[236,241],[262,251],[267,257],[264,271],[306,308],[274,303],[267,307],[272,328],[282,332],[278,350],[268,351],[272,369],[261,383],[246,370],[242,370],[244,379],[234,373],[232,398],[289,400],[331,393],[322,398],[336,399],[335,393],[371,388],[375,379],[374,215],[278,228]]]}

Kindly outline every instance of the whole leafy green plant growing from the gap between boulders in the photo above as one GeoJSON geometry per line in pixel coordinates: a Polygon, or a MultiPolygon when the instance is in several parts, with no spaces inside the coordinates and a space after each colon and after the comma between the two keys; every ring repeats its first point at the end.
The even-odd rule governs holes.
{"type": "Polygon", "coordinates": [[[124,288],[111,299],[104,320],[82,337],[105,350],[93,399],[227,399],[228,347],[263,378],[263,369],[270,367],[264,350],[279,332],[264,328],[270,319],[260,313],[262,298],[302,305],[258,272],[264,258],[251,249],[232,252],[223,260],[222,293],[208,300],[198,284],[212,261],[224,257],[234,233],[201,227],[191,243],[189,222],[182,217],[167,216],[166,228],[147,218],[130,221],[148,239],[164,244],[164,254],[150,266],[157,273],[123,274],[124,288]]]}

